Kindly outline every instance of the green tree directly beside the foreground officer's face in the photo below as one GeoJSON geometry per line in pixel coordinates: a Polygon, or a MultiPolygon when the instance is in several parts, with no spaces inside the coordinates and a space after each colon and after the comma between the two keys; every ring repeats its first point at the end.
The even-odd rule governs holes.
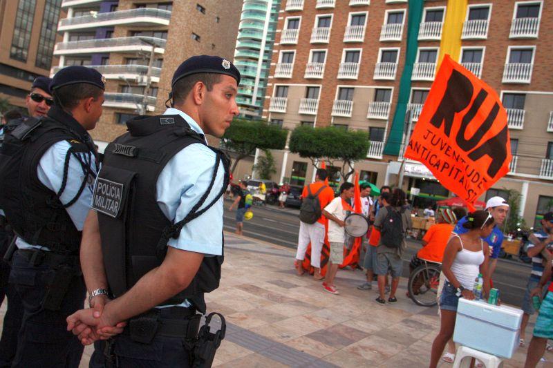
{"type": "Polygon", "coordinates": [[[225,131],[221,147],[236,153],[230,171],[234,173],[236,164],[245,157],[254,155],[256,148],[281,150],[286,144],[288,130],[268,124],[264,120],[234,119],[225,131]]]}

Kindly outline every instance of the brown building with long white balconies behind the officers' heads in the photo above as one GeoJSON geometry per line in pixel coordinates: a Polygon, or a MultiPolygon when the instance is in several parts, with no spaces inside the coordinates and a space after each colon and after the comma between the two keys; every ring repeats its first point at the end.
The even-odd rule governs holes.
{"type": "Polygon", "coordinates": [[[162,113],[171,77],[193,55],[232,60],[241,0],[63,0],[59,66],[106,77],[104,113],[91,132],[100,148],[141,113],[162,113]]]}

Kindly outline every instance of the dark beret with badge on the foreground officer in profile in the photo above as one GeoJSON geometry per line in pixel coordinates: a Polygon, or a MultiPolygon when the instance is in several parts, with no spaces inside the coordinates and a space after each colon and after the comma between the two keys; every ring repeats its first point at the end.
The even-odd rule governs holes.
{"type": "Polygon", "coordinates": [[[189,57],[178,66],[171,87],[175,86],[179,79],[200,72],[230,75],[236,79],[237,84],[240,83],[240,72],[230,61],[218,56],[198,55],[189,57]]]}

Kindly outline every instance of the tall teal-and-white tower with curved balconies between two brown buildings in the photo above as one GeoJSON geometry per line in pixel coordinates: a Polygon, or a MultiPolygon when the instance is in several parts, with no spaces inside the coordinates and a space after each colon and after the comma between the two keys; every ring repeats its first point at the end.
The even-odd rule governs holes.
{"type": "Polygon", "coordinates": [[[234,64],[242,79],[236,102],[243,117],[261,117],[281,0],[244,0],[234,64]]]}

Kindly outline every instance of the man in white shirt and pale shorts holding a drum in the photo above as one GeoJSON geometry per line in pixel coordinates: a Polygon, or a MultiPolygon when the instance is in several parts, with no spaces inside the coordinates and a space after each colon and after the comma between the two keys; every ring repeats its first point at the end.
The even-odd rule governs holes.
{"type": "Polygon", "coordinates": [[[353,211],[349,202],[354,195],[353,184],[344,182],[340,186],[340,195],[335,197],[324,209],[323,215],[328,218],[328,242],[330,243],[330,263],[326,270],[326,277],[323,282],[325,291],[331,294],[338,294],[334,284],[334,278],[338,267],[344,262],[344,241],[346,240],[347,211],[353,211]]]}

